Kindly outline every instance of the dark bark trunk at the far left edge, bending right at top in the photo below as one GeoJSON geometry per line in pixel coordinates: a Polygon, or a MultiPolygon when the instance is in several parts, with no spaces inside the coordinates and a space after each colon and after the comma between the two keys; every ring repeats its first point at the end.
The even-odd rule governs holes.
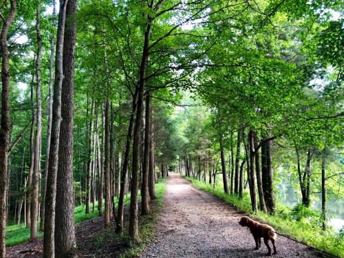
{"type": "Polygon", "coordinates": [[[5,231],[6,231],[6,190],[8,180],[8,147],[10,144],[10,72],[9,72],[9,54],[7,45],[8,28],[16,15],[16,1],[10,1],[10,12],[6,19],[3,19],[3,25],[0,34],[1,47],[1,122],[0,122],[0,257],[6,257],[5,231]]]}

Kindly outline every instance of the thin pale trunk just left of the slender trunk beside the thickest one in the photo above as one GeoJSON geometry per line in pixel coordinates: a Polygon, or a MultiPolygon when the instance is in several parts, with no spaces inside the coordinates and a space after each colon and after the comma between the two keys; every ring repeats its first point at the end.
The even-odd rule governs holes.
{"type": "MultiPolygon", "coordinates": [[[[55,1],[52,3],[52,27],[55,28],[55,16],[56,16],[56,8],[55,8],[55,1]]],[[[48,164],[49,164],[49,151],[50,151],[50,137],[52,135],[52,85],[54,83],[54,45],[55,45],[55,36],[54,33],[50,36],[50,58],[49,58],[49,104],[47,107],[47,146],[45,150],[45,169],[44,169],[44,182],[43,182],[43,196],[41,201],[41,225],[40,230],[44,230],[44,219],[45,219],[45,193],[47,192],[47,172],[48,172],[48,164]]]]}

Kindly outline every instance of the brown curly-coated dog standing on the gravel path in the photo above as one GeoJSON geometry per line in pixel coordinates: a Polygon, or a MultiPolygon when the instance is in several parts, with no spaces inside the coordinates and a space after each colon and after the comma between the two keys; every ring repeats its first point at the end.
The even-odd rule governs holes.
{"type": "Polygon", "coordinates": [[[266,244],[266,247],[268,248],[268,253],[266,255],[271,255],[271,248],[269,246],[268,241],[271,240],[272,246],[274,247],[273,254],[277,253],[276,246],[275,246],[275,240],[276,240],[276,233],[275,229],[272,228],[272,226],[266,225],[266,224],[260,224],[259,222],[256,222],[253,219],[250,219],[247,216],[241,217],[239,224],[241,226],[247,226],[250,228],[250,231],[255,238],[256,242],[256,248],[255,250],[258,250],[261,246],[261,237],[264,238],[264,243],[266,244]]]}

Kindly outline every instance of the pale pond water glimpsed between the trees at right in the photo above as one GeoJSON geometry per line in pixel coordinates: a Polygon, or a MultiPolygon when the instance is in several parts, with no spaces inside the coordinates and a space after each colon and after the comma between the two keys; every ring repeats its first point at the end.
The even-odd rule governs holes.
{"type": "MultiPolygon", "coordinates": [[[[301,193],[299,189],[294,188],[287,180],[277,185],[277,200],[290,208],[301,202],[301,193]]],[[[334,230],[339,232],[344,227],[344,199],[331,199],[327,197],[326,209],[327,217],[330,220],[327,222],[334,230]]],[[[321,211],[321,193],[312,195],[312,208],[321,211]]]]}

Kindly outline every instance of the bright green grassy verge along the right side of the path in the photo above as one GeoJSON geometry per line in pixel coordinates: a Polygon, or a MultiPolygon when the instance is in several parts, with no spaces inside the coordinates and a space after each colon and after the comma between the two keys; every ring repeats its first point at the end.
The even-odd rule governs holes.
{"type": "Polygon", "coordinates": [[[236,195],[227,195],[220,187],[214,188],[210,184],[205,184],[193,178],[186,178],[186,180],[191,182],[195,188],[212,193],[220,197],[224,202],[250,214],[250,217],[270,224],[279,233],[283,233],[305,244],[329,252],[332,255],[344,257],[343,235],[334,233],[333,230],[323,232],[319,226],[314,226],[314,223],[312,223],[309,218],[301,219],[300,221],[292,219],[292,210],[286,206],[278,206],[275,215],[269,215],[261,211],[252,213],[248,194],[246,194],[243,199],[239,199],[236,195]]]}

